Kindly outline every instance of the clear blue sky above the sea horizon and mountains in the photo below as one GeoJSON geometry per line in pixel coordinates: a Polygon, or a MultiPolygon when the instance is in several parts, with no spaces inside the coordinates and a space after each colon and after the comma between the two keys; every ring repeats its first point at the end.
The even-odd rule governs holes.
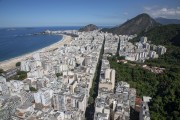
{"type": "Polygon", "coordinates": [[[0,0],[0,27],[118,25],[144,12],[180,19],[180,0],[0,0]]]}

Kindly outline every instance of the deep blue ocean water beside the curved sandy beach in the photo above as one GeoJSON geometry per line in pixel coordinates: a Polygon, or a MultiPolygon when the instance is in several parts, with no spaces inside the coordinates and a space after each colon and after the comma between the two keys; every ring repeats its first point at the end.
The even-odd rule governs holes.
{"type": "Polygon", "coordinates": [[[33,35],[45,30],[77,30],[80,27],[1,28],[0,61],[8,60],[49,46],[62,39],[60,35],[33,35]]]}

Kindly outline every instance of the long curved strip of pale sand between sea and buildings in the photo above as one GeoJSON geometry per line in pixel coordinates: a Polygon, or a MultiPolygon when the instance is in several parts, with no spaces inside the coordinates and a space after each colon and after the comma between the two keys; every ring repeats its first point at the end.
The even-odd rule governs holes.
{"type": "Polygon", "coordinates": [[[62,40],[60,40],[59,42],[51,44],[51,45],[49,45],[47,47],[44,47],[42,49],[39,49],[37,51],[34,51],[34,52],[31,52],[31,53],[28,53],[28,54],[24,54],[24,55],[21,55],[21,56],[18,56],[18,57],[15,57],[15,58],[0,62],[0,68],[2,68],[3,70],[8,70],[8,69],[11,69],[11,68],[15,68],[17,62],[20,62],[22,60],[25,60],[27,58],[32,57],[32,55],[34,53],[36,53],[36,52],[46,52],[46,51],[53,50],[53,49],[58,48],[58,47],[60,47],[60,46],[62,46],[64,44],[70,44],[71,40],[72,40],[71,36],[63,35],[62,40]]]}

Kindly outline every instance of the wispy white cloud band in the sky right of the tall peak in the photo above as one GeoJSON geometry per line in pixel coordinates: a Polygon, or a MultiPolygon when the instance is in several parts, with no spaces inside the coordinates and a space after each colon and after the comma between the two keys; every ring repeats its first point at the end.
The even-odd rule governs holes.
{"type": "Polygon", "coordinates": [[[167,7],[158,7],[158,6],[146,6],[144,7],[144,12],[148,13],[154,18],[165,17],[171,19],[180,19],[180,7],[176,8],[167,8],[167,7]]]}

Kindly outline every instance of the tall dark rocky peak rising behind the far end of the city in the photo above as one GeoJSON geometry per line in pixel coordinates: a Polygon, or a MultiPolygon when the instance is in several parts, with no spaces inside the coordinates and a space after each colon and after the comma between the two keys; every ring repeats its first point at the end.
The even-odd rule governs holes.
{"type": "Polygon", "coordinates": [[[153,18],[151,18],[148,14],[143,13],[140,14],[131,20],[123,23],[120,26],[114,28],[104,28],[101,31],[109,32],[113,34],[123,34],[123,35],[131,35],[131,34],[139,34],[143,31],[148,31],[149,29],[159,26],[160,24],[157,23],[153,18]]]}

